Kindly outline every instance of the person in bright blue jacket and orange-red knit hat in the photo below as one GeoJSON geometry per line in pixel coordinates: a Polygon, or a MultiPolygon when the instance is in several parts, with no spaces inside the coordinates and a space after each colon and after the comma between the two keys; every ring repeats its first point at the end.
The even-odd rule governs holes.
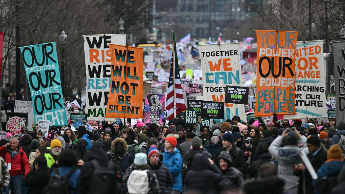
{"type": "Polygon", "coordinates": [[[180,151],[176,148],[177,140],[174,136],[165,138],[165,153],[163,153],[163,164],[169,168],[171,176],[174,178],[171,194],[182,193],[182,165],[183,159],[180,151]]]}

